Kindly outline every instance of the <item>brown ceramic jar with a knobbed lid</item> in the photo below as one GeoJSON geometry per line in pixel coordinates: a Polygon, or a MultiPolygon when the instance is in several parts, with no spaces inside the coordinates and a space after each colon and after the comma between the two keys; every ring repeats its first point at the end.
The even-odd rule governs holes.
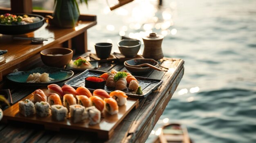
{"type": "Polygon", "coordinates": [[[164,57],[162,51],[163,35],[157,35],[156,33],[150,33],[148,36],[143,37],[144,51],[143,57],[150,59],[162,59],[164,57]]]}

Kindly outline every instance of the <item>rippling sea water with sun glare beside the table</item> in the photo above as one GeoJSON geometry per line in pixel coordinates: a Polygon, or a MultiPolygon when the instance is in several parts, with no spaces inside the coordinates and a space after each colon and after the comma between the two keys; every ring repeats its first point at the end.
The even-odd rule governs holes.
{"type": "MultiPolygon", "coordinates": [[[[84,13],[97,15],[88,30],[94,43],[121,36],[164,35],[165,57],[184,59],[184,76],[146,142],[165,123],[186,125],[194,143],[256,142],[256,1],[135,0],[109,11],[89,1],[84,13]]],[[[140,39],[141,40],[141,39],[140,39]]],[[[141,46],[143,51],[144,45],[141,46]]]]}

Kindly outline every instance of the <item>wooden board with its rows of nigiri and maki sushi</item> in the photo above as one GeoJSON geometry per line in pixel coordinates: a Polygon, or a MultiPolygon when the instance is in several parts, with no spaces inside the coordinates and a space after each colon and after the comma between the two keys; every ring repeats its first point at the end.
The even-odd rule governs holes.
{"type": "Polygon", "coordinates": [[[45,125],[49,130],[69,128],[106,134],[112,131],[137,108],[138,99],[127,98],[125,92],[103,89],[90,92],[84,86],[77,89],[50,84],[4,110],[5,120],[15,120],[45,125]],[[51,128],[54,126],[54,129],[51,128]]]}

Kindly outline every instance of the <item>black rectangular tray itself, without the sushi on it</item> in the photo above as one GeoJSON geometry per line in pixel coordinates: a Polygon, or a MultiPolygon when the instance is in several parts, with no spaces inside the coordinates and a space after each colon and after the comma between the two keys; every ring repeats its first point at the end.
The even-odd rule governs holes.
{"type": "MultiPolygon", "coordinates": [[[[90,76],[100,76],[103,73],[106,73],[106,71],[102,71],[102,70],[85,70],[83,73],[81,73],[80,75],[68,80],[67,82],[65,82],[65,84],[72,86],[73,88],[78,88],[80,86],[85,86],[85,78],[86,77],[90,77],[90,76]]],[[[132,98],[144,98],[147,97],[151,92],[153,92],[154,90],[157,89],[158,86],[160,86],[163,81],[159,80],[159,79],[151,79],[151,78],[146,78],[146,77],[137,77],[134,76],[138,81],[139,81],[139,86],[141,86],[142,95],[137,95],[135,94],[136,90],[122,90],[126,93],[126,95],[128,97],[132,97],[132,98]]],[[[94,88],[88,88],[91,92],[93,92],[95,89],[94,88]]],[[[105,86],[104,90],[106,90],[106,92],[110,93],[112,91],[115,90],[115,88],[110,88],[105,86]]]]}

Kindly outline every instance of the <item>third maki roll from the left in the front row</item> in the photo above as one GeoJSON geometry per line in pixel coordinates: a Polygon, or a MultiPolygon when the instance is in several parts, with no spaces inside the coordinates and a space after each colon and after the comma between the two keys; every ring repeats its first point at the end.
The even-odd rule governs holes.
{"type": "Polygon", "coordinates": [[[62,105],[52,105],[52,119],[56,121],[64,121],[67,117],[67,108],[62,105]]]}

